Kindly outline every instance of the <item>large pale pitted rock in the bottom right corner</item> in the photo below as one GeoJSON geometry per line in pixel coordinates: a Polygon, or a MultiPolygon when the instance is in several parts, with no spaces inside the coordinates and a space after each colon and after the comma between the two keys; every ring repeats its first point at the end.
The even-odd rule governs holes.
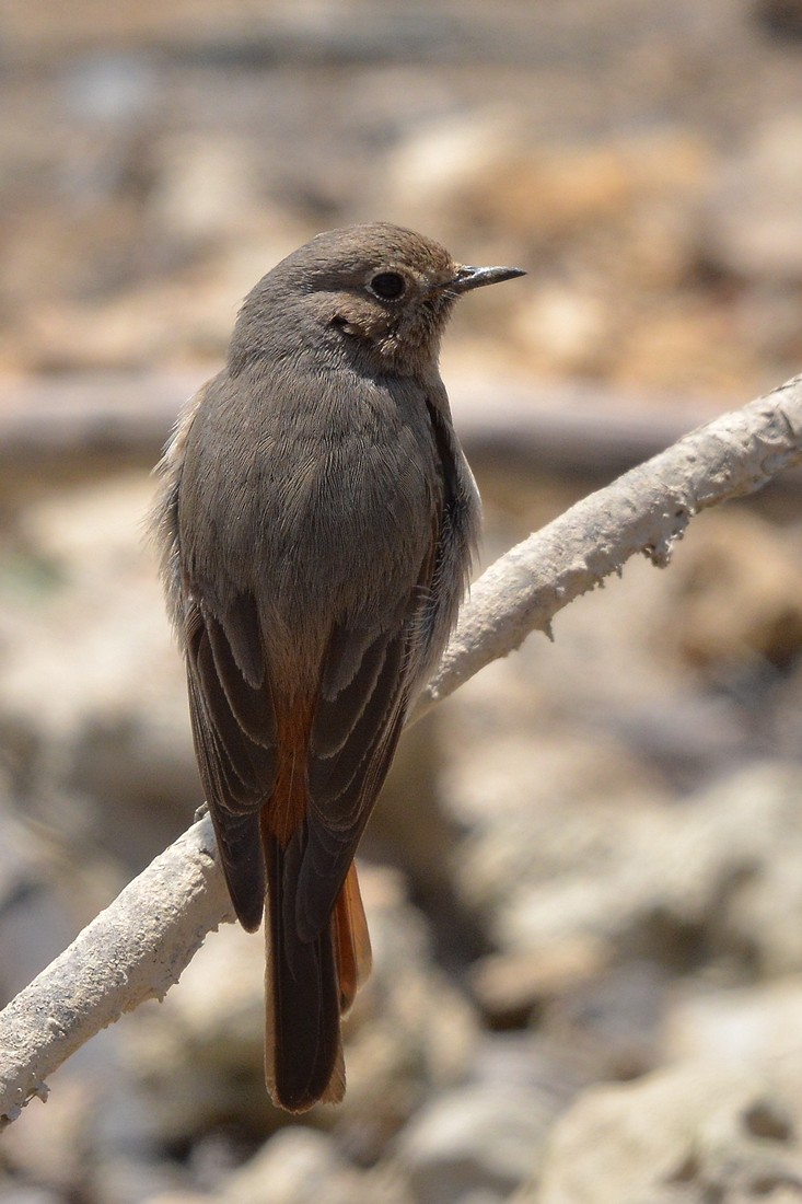
{"type": "Polygon", "coordinates": [[[596,1087],[556,1125],[542,1170],[514,1200],[796,1199],[800,1119],[798,1105],[771,1078],[704,1063],[596,1087]]]}

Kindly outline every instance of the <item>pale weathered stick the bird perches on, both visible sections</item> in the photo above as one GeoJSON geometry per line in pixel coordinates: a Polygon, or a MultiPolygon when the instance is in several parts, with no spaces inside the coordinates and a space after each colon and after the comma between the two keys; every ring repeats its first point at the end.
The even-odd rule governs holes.
{"type": "MultiPolygon", "coordinates": [[[[704,507],[802,460],[802,377],[688,435],[502,556],[476,583],[413,719],[635,553],[667,562],[704,507]]],[[[0,1013],[0,1117],[13,1120],[94,1033],[178,979],[230,908],[207,820],[195,824],[0,1013]]]]}

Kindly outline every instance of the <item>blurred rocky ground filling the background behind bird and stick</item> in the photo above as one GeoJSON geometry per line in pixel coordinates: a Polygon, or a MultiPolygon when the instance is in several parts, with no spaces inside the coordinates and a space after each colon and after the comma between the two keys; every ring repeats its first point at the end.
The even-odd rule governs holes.
{"type": "MultiPolygon", "coordinates": [[[[529,270],[444,352],[489,562],[802,368],[802,6],[0,0],[0,98],[5,1001],[200,802],[142,521],[244,293],[368,218],[529,270]]],[[[2,1137],[0,1204],[802,1200],[801,490],[407,733],[342,1108],[269,1105],[228,926],[2,1137]]]]}

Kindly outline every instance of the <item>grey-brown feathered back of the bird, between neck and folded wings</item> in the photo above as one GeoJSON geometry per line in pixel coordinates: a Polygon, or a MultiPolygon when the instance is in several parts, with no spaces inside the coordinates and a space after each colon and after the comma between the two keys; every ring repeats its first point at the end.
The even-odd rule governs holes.
{"type": "Polygon", "coordinates": [[[395,619],[431,548],[442,471],[417,382],[266,368],[207,386],[179,468],[178,531],[184,573],[211,604],[258,596],[277,667],[294,631],[297,673],[297,647],[319,663],[334,621],[395,619]],[[243,388],[258,406],[241,405],[243,388]]]}

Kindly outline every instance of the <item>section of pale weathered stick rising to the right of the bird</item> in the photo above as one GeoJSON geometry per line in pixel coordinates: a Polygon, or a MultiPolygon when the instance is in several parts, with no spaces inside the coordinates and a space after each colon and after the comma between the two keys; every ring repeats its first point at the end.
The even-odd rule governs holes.
{"type": "Polygon", "coordinates": [[[695,514],[761,489],[802,460],[802,376],[723,414],[583,498],[524,539],[471,588],[413,719],[453,694],[630,556],[665,566],[695,514]]]}

